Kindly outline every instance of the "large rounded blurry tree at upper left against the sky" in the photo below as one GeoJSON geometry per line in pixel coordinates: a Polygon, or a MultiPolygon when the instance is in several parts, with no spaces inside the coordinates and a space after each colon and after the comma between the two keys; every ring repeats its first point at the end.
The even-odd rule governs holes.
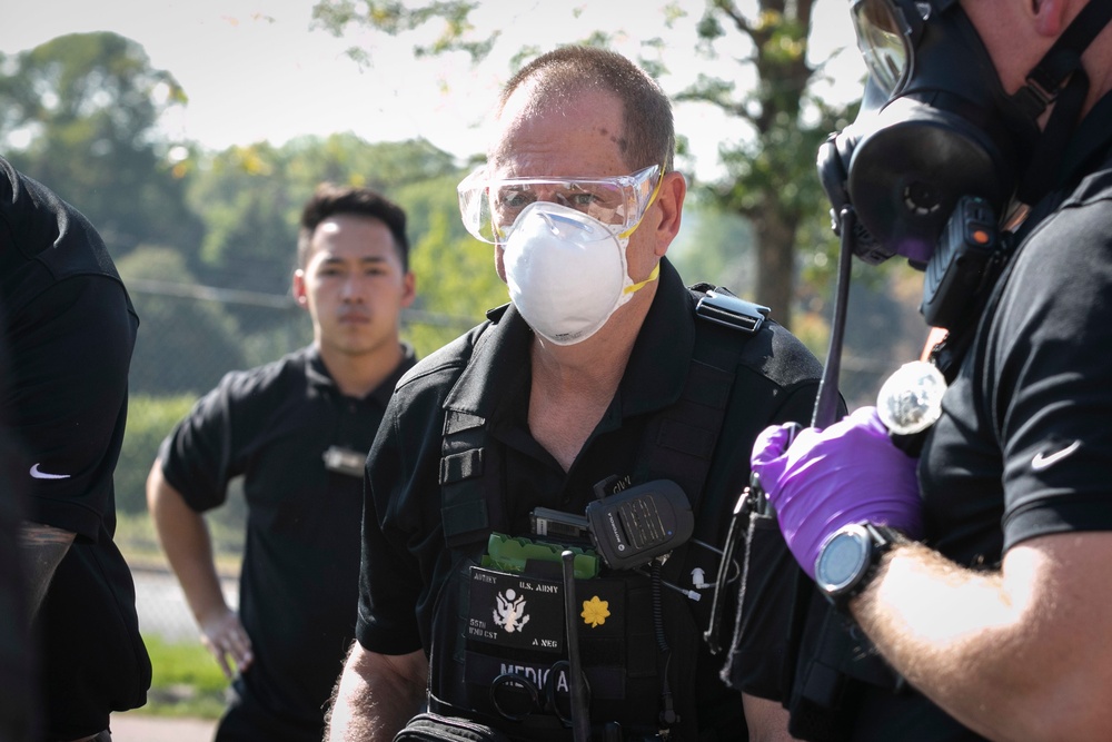
{"type": "Polygon", "coordinates": [[[115,255],[196,245],[200,225],[156,125],[183,103],[173,76],[116,33],[73,33],[0,56],[0,145],[16,167],[78,207],[115,255]]]}

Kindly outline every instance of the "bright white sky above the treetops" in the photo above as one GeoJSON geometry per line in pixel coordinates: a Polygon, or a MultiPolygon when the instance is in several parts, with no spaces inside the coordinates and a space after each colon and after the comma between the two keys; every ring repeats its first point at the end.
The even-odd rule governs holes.
{"type": "MultiPolygon", "coordinates": [[[[14,1],[14,0],[12,0],[14,1]]],[[[310,30],[314,0],[30,0],[0,21],[0,51],[11,55],[57,36],[115,31],[138,41],[151,65],[171,72],[189,97],[166,128],[175,137],[222,149],[270,140],[281,145],[302,133],[354,131],[373,142],[424,137],[459,157],[483,150],[483,116],[524,44],[544,49],[576,41],[595,29],[622,29],[615,47],[631,57],[644,39],[666,36],[663,0],[487,0],[474,16],[478,28],[502,29],[492,62],[478,70],[466,57],[415,60],[413,39],[361,33],[336,39],[310,30]],[[510,8],[512,10],[507,10],[510,8]],[[577,11],[576,13],[573,12],[577,11]],[[359,44],[371,57],[360,69],[345,50],[359,44]]],[[[679,0],[689,28],[704,0],[679,0]]],[[[745,7],[745,0],[742,0],[745,7]]],[[[836,77],[858,91],[860,60],[844,0],[818,0],[815,60],[837,57],[836,77]]],[[[683,38],[693,38],[684,33],[683,38]]],[[[689,80],[696,65],[689,44],[665,53],[669,92],[689,80]],[[686,77],[685,77],[686,76],[686,77]]],[[[724,71],[736,66],[723,62],[724,71]]],[[[705,69],[705,66],[703,67],[705,69]]],[[[852,93],[851,93],[852,95],[852,93]]],[[[739,136],[706,107],[679,106],[677,131],[689,137],[697,172],[713,177],[717,146],[739,136]]]]}

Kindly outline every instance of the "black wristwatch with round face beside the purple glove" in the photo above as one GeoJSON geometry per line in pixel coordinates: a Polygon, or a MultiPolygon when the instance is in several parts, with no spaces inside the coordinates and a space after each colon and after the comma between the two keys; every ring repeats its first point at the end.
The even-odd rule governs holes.
{"type": "Polygon", "coordinates": [[[905,537],[895,528],[852,523],[834,532],[815,561],[815,583],[838,611],[848,612],[850,598],[865,590],[881,555],[905,537]]]}

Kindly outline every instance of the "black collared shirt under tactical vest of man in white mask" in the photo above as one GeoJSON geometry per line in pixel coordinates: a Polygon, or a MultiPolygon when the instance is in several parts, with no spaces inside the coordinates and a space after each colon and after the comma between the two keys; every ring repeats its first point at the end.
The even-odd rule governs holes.
{"type": "MultiPolygon", "coordinates": [[[[642,441],[655,414],[684,392],[696,319],[694,300],[667,260],[659,280],[618,390],[566,473],[529,433],[533,336],[512,305],[403,378],[368,459],[364,563],[369,568],[360,577],[357,626],[366,649],[403,654],[424,647],[427,653],[431,644],[433,603],[451,561],[440,512],[445,408],[488,421],[489,445],[503,463],[502,492],[494,496],[513,535],[529,533],[528,514],[538,505],[582,514],[595,497],[594,485],[606,477],[639,484],[667,474],[643,461],[642,441]]],[[[743,337],[729,330],[723,342],[743,343],[743,337]]],[[[696,535],[716,546],[747,483],[757,433],[771,424],[810,419],[821,374],[814,356],[774,323],[744,342],[698,506],[696,535]]],[[[697,575],[713,578],[717,562],[706,558],[713,554],[705,548],[693,546],[688,553],[706,566],[702,573],[683,570],[681,586],[698,592],[697,575]]],[[[703,588],[702,600],[688,603],[705,626],[711,592],[703,588]]],[[[717,679],[718,664],[701,653],[698,702],[704,709],[718,706],[719,715],[729,704],[739,716],[739,699],[717,679]]],[[[689,698],[694,690],[689,683],[677,693],[689,698]]],[[[744,739],[744,724],[732,733],[744,739]]]]}

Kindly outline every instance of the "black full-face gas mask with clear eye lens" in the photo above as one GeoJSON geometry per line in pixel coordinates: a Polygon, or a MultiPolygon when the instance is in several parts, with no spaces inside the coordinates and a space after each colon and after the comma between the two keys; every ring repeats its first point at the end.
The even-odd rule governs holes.
{"type": "Polygon", "coordinates": [[[820,178],[836,230],[855,211],[855,255],[923,268],[962,197],[1003,217],[1050,188],[1088,92],[1081,52],[1112,3],[1083,8],[1011,95],[956,0],[853,0],[852,13],[868,83],[857,119],[821,148],[820,178]]]}

